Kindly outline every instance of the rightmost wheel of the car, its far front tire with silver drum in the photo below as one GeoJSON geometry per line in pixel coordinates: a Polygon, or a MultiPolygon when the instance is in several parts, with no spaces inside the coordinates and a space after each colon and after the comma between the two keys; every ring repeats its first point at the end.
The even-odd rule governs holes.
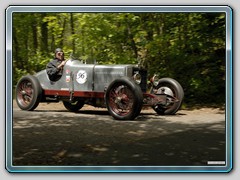
{"type": "MultiPolygon", "coordinates": [[[[159,80],[158,85],[155,89],[167,89],[167,91],[170,91],[171,93],[169,95],[172,95],[173,97],[177,98],[179,101],[174,103],[169,103],[167,106],[163,107],[161,105],[156,105],[153,107],[155,112],[157,112],[160,115],[171,115],[175,114],[181,107],[183,97],[184,97],[184,91],[182,86],[174,79],[172,78],[162,78],[159,80]]],[[[151,91],[153,93],[153,91],[151,91]]],[[[168,94],[167,92],[165,94],[168,94]]]]}

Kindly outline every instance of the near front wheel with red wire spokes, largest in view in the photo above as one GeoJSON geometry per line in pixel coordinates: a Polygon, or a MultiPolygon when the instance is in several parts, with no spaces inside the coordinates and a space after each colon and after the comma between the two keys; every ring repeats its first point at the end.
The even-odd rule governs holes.
{"type": "Polygon", "coordinates": [[[117,120],[133,120],[142,110],[143,94],[130,78],[114,80],[105,94],[108,112],[117,120]]]}

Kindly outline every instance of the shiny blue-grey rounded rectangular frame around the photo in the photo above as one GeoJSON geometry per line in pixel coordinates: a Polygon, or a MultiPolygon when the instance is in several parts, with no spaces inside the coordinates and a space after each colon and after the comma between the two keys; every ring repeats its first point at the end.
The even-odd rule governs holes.
{"type": "Polygon", "coordinates": [[[5,163],[9,172],[230,172],[233,168],[233,10],[230,6],[9,6],[5,11],[5,163]],[[13,166],[12,15],[15,12],[224,12],[226,14],[225,166],[13,166]]]}

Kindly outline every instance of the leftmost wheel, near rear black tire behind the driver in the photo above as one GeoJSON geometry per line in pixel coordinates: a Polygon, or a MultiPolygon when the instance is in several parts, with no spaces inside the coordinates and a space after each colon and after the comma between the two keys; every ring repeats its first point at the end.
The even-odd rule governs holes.
{"type": "Polygon", "coordinates": [[[34,110],[42,99],[42,87],[35,76],[22,77],[16,87],[17,105],[22,110],[34,110]]]}

